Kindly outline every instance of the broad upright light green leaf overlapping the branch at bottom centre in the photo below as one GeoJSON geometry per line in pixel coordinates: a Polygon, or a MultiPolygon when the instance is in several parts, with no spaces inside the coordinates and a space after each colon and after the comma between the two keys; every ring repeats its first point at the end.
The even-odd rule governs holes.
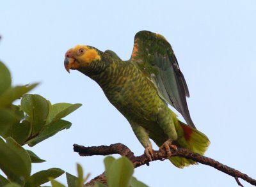
{"type": "Polygon", "coordinates": [[[108,186],[129,187],[129,182],[132,177],[134,168],[131,161],[128,158],[122,156],[121,158],[112,161],[111,165],[108,167],[108,186]]]}

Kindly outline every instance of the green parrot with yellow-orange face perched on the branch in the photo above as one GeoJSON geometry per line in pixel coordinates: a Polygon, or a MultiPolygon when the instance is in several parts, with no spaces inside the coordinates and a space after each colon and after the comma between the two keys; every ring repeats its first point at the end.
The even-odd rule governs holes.
{"type": "Polygon", "coordinates": [[[109,102],[127,119],[134,134],[154,159],[153,140],[164,149],[178,168],[196,161],[172,156],[171,148],[182,147],[204,154],[210,144],[196,130],[188,110],[188,86],[180,71],[172,46],[164,36],[139,31],[134,37],[131,58],[123,61],[111,50],[105,52],[90,45],[76,45],[65,53],[65,69],[77,70],[95,80],[109,102]],[[184,117],[180,121],[168,105],[184,117]]]}

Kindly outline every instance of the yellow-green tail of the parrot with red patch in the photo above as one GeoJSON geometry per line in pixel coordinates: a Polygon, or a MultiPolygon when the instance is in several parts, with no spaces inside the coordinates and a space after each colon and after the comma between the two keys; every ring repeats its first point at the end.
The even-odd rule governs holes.
{"type": "MultiPolygon", "coordinates": [[[[195,128],[188,126],[187,124],[184,124],[180,121],[178,122],[180,123],[180,126],[184,131],[184,135],[176,140],[177,144],[179,144],[180,147],[189,149],[194,153],[203,155],[210,144],[207,136],[204,135],[204,133],[196,130],[195,128]]],[[[169,160],[172,161],[173,165],[179,168],[183,168],[191,164],[197,164],[196,161],[182,158],[180,156],[173,156],[169,158],[169,160]]]]}

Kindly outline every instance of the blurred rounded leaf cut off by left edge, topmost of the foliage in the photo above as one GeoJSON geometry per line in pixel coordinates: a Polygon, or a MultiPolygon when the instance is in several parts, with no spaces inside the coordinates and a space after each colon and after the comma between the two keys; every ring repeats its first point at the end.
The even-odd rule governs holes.
{"type": "Polygon", "coordinates": [[[8,68],[0,61],[0,95],[11,87],[12,79],[8,68]]]}

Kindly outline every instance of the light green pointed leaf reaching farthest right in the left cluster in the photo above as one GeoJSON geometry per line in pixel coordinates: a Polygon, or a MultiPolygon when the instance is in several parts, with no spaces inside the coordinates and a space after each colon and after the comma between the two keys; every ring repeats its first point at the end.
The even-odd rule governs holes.
{"type": "Polygon", "coordinates": [[[70,103],[56,103],[52,105],[51,112],[47,118],[47,124],[67,116],[79,107],[81,107],[81,104],[78,103],[73,105],[70,103]]]}

